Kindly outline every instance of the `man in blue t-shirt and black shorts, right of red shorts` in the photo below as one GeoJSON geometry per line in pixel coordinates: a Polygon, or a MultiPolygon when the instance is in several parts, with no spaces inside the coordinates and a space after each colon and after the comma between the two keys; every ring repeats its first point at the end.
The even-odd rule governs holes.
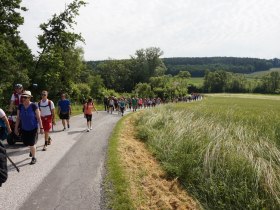
{"type": "Polygon", "coordinates": [[[68,99],[66,99],[65,93],[61,95],[61,99],[58,101],[58,115],[62,120],[63,130],[67,127],[70,128],[69,119],[71,115],[71,103],[68,99]]]}

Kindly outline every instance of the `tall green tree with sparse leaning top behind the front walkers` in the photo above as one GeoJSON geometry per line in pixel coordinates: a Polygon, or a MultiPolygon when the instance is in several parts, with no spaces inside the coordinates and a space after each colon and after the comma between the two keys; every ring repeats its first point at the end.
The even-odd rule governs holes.
{"type": "Polygon", "coordinates": [[[37,58],[33,78],[42,84],[41,89],[51,90],[50,95],[56,96],[62,91],[72,93],[76,79],[86,69],[83,61],[83,50],[76,47],[78,41],[84,41],[81,34],[71,32],[76,24],[84,1],[74,0],[59,15],[54,14],[47,22],[40,25],[43,34],[38,36],[41,49],[37,58]]]}

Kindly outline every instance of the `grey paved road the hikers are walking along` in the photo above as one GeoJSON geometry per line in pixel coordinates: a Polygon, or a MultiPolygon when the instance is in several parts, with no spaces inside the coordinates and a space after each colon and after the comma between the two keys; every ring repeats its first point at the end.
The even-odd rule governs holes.
{"type": "Polygon", "coordinates": [[[7,146],[20,173],[8,166],[9,178],[0,188],[0,209],[103,209],[101,185],[108,138],[119,119],[117,114],[94,114],[90,132],[81,115],[71,118],[66,131],[58,122],[46,152],[42,151],[43,136],[39,137],[35,165],[29,165],[27,147],[20,143],[7,146]]]}

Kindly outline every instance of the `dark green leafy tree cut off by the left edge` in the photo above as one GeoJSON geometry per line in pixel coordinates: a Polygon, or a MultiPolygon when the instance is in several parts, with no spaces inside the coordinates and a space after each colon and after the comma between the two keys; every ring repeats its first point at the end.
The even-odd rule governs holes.
{"type": "Polygon", "coordinates": [[[19,36],[18,27],[24,19],[21,0],[0,1],[0,106],[9,103],[13,85],[23,83],[29,88],[29,68],[33,65],[31,50],[19,36]]]}

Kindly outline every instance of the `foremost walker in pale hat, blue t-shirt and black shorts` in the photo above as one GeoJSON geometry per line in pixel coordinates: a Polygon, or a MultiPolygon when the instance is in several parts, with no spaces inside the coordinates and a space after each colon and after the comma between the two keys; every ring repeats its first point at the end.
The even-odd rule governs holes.
{"type": "Polygon", "coordinates": [[[15,125],[15,134],[18,135],[19,123],[21,123],[21,139],[26,146],[30,148],[32,160],[30,164],[35,164],[36,155],[36,139],[38,136],[38,124],[40,126],[40,133],[43,134],[43,125],[41,121],[40,111],[35,103],[32,103],[31,92],[26,90],[21,95],[22,104],[19,104],[17,110],[17,120],[15,125]]]}

